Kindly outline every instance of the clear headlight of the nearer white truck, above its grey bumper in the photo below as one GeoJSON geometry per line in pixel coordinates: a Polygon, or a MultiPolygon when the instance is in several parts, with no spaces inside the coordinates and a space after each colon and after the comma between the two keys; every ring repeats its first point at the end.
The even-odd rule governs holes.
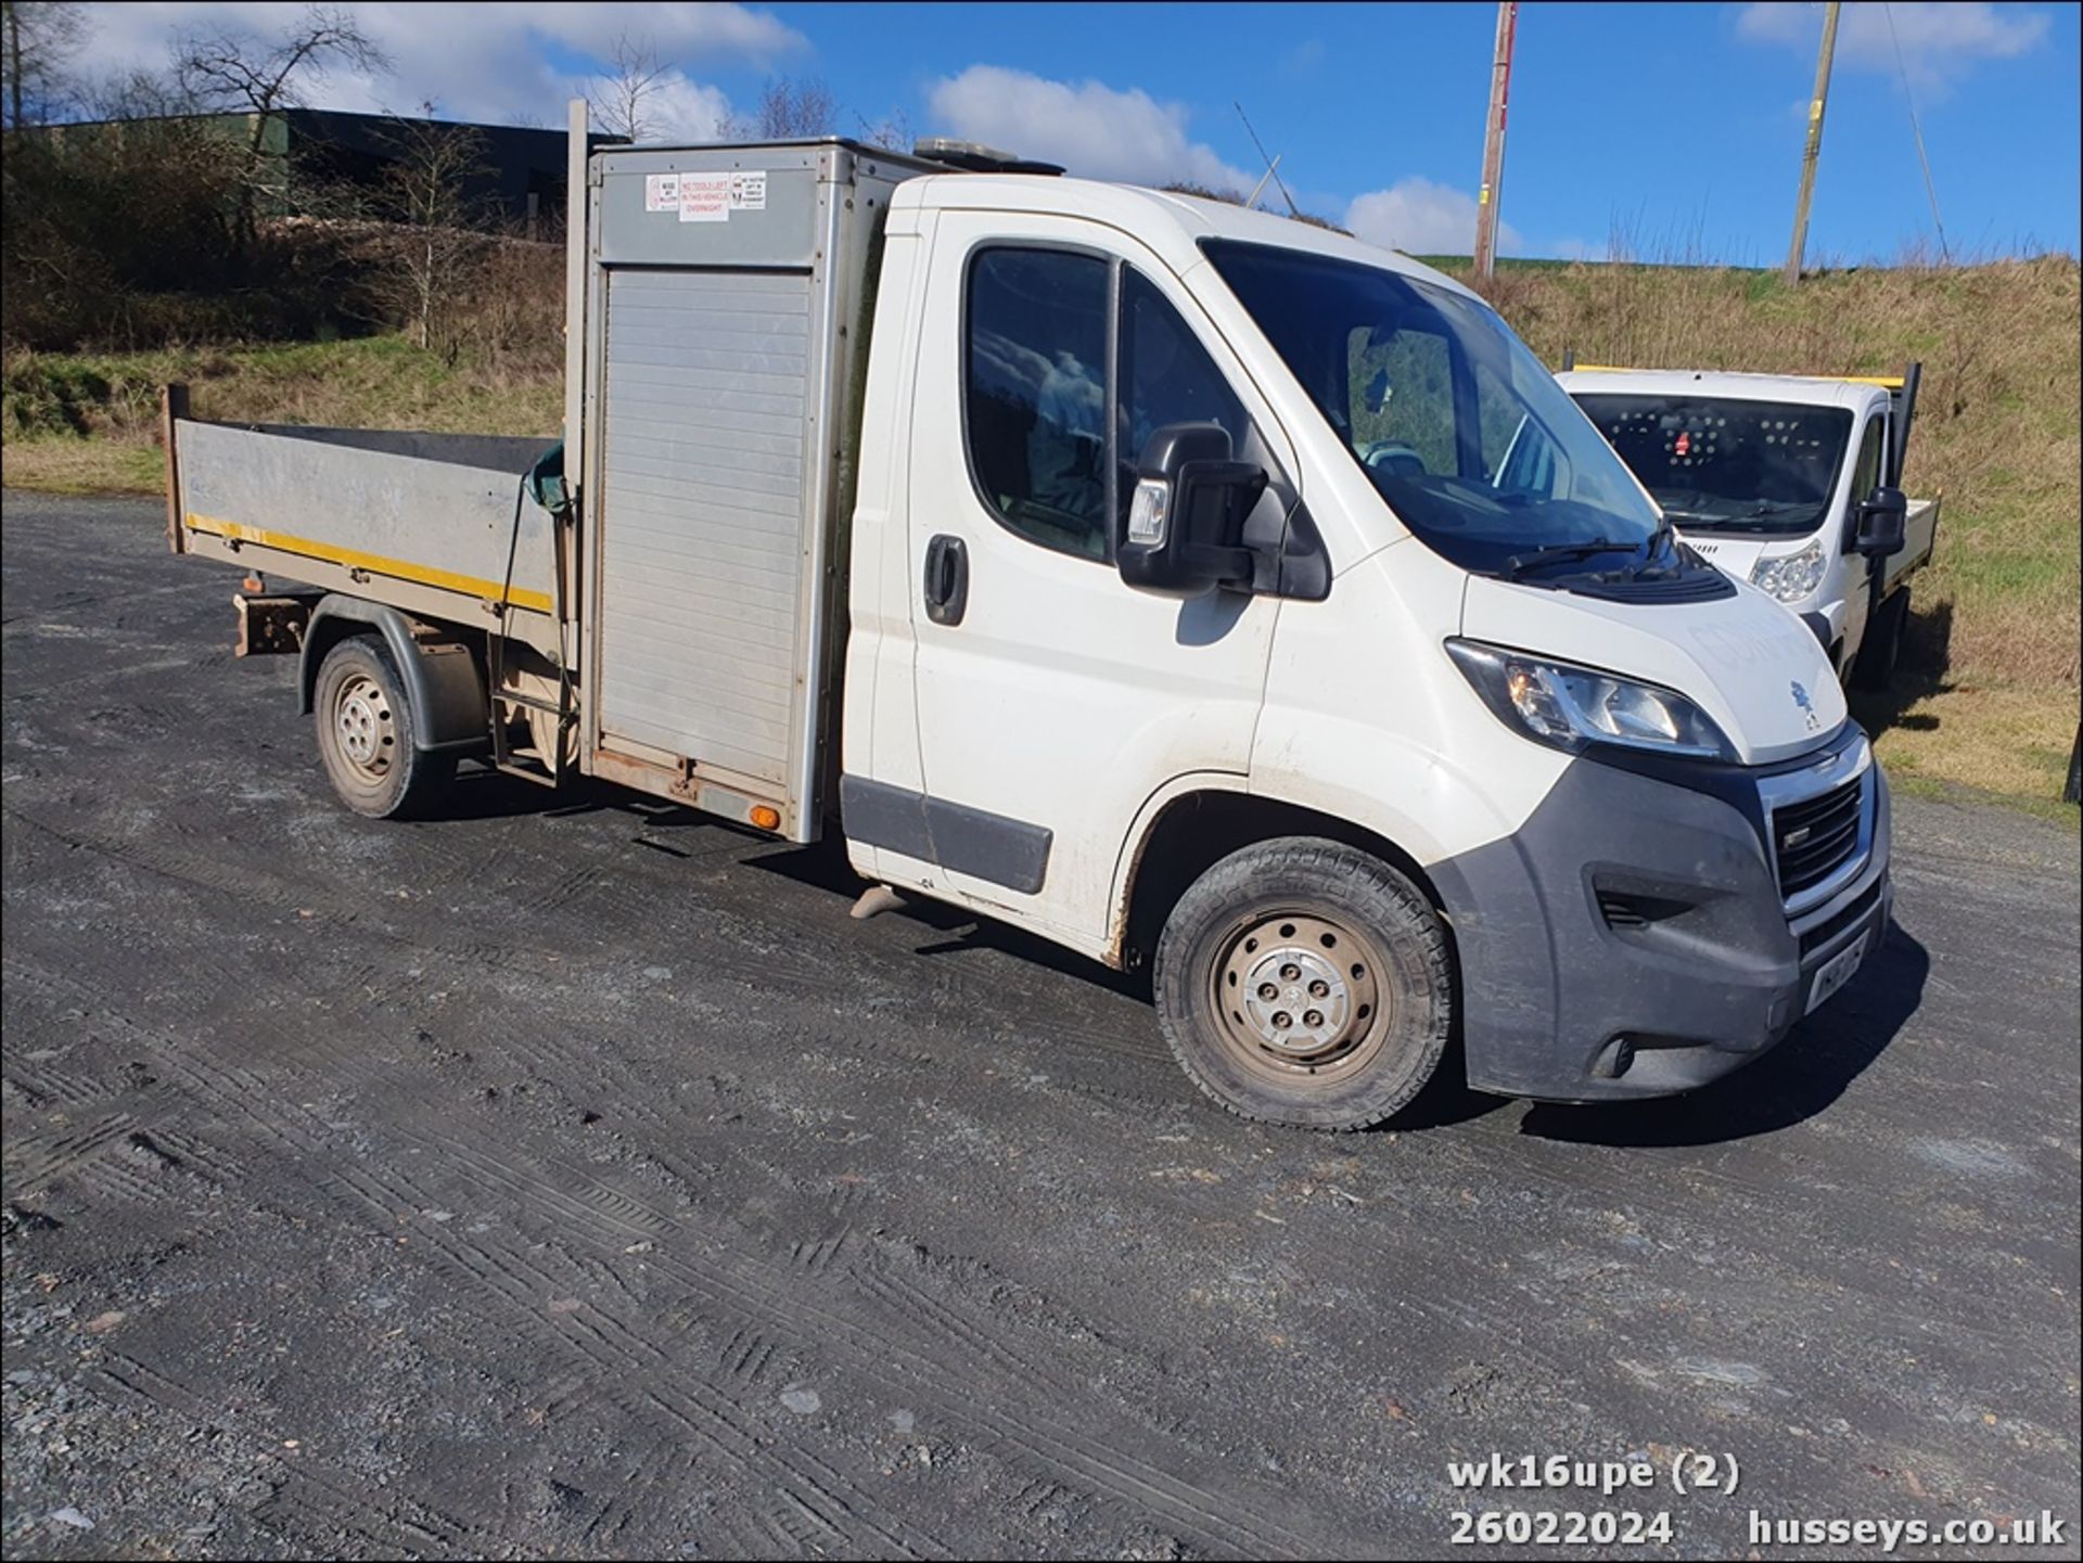
{"type": "Polygon", "coordinates": [[[1625,749],[1735,760],[1714,718],[1675,689],[1573,662],[1452,639],[1448,656],[1506,726],[1554,749],[1616,743],[1625,749]]]}

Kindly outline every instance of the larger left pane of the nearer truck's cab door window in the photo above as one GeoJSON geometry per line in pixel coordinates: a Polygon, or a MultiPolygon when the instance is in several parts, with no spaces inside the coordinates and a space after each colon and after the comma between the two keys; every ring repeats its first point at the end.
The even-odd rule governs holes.
{"type": "Polygon", "coordinates": [[[1108,556],[1108,262],[979,250],[969,266],[964,416],[977,491],[1042,547],[1108,556]]]}

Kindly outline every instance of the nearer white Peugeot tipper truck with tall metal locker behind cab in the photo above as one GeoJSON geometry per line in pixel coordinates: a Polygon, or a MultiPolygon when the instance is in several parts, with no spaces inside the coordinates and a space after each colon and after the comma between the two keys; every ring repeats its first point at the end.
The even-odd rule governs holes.
{"type": "Polygon", "coordinates": [[[1466,287],[948,144],[573,189],[560,479],[169,393],[173,545],[312,587],[242,637],[350,808],[477,755],[837,832],[871,895],[1148,962],[1202,1091],[1329,1130],[1441,1057],[1700,1086],[1883,937],[1823,647],[1466,287]]]}

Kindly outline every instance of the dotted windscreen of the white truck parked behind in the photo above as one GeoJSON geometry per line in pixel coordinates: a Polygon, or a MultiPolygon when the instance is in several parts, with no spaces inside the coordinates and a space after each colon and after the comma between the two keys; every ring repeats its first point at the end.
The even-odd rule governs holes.
{"type": "Polygon", "coordinates": [[[1812,533],[1852,439],[1850,408],[1593,391],[1577,406],[1687,531],[1812,533]]]}

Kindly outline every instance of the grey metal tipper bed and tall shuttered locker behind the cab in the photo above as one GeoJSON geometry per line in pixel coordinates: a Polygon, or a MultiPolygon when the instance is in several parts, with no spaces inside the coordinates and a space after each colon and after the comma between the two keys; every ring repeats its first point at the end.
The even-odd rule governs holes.
{"type": "Polygon", "coordinates": [[[175,547],[519,641],[581,774],[817,839],[871,264],[927,166],[848,142],[587,160],[583,527],[525,481],[548,437],[175,408],[175,547]]]}

